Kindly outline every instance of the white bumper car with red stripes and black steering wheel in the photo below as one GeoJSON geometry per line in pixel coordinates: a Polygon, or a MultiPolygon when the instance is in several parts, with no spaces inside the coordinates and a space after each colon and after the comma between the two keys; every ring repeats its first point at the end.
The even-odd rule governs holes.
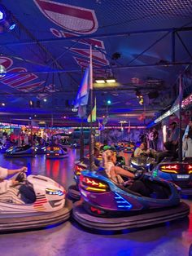
{"type": "Polygon", "coordinates": [[[63,223],[72,204],[59,183],[41,175],[20,173],[19,184],[0,194],[0,232],[20,231],[63,223]]]}

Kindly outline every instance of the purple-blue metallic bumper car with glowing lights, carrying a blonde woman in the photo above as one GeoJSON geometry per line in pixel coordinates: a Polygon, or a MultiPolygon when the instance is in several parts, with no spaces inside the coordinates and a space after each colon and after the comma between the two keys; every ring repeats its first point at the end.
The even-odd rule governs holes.
{"type": "Polygon", "coordinates": [[[180,201],[179,188],[175,184],[149,174],[142,175],[142,182],[150,188],[148,197],[114,183],[105,171],[81,172],[82,200],[74,204],[73,217],[92,230],[117,231],[188,216],[190,207],[180,201]]]}

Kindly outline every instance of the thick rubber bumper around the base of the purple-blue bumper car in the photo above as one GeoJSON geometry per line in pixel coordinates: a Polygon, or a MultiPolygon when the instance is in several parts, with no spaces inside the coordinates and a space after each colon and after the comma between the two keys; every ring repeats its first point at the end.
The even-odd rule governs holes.
{"type": "Polygon", "coordinates": [[[159,223],[166,223],[177,218],[185,218],[190,213],[189,205],[181,202],[172,208],[156,210],[155,212],[137,214],[118,218],[101,218],[88,214],[82,201],[77,201],[73,206],[73,218],[82,226],[98,231],[120,231],[129,228],[152,226],[159,223]]]}

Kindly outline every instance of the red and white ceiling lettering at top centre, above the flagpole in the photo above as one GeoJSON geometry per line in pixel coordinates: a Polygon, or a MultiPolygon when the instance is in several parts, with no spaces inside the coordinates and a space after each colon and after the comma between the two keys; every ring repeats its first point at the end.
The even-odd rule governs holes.
{"type": "Polygon", "coordinates": [[[78,41],[78,44],[81,44],[80,47],[71,48],[69,50],[81,58],[81,60],[78,60],[78,56],[73,57],[81,68],[87,67],[89,62],[89,49],[85,49],[82,46],[97,46],[98,50],[93,51],[93,67],[101,67],[101,70],[97,70],[94,74],[103,74],[104,71],[102,70],[102,66],[109,65],[108,60],[106,60],[106,55],[104,54],[105,46],[103,41],[94,38],[80,38],[81,34],[94,33],[98,29],[98,20],[94,11],[83,7],[74,7],[68,4],[48,0],[33,1],[43,15],[64,29],[50,28],[50,32],[56,38],[74,38],[72,41],[78,41]],[[103,53],[100,50],[102,50],[103,53]]]}

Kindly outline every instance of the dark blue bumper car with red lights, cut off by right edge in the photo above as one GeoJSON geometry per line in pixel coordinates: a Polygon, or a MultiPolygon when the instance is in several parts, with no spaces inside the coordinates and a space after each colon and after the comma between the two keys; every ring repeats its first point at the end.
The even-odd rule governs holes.
{"type": "Polygon", "coordinates": [[[192,195],[192,159],[185,159],[182,162],[172,161],[166,157],[159,165],[152,170],[154,177],[159,177],[177,184],[181,193],[192,195]]]}

